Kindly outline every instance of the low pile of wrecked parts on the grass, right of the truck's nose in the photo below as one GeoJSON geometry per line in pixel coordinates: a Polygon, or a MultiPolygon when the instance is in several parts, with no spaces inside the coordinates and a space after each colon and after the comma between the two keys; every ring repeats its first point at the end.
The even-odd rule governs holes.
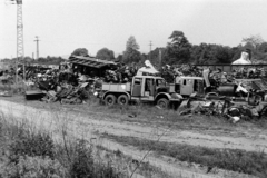
{"type": "Polygon", "coordinates": [[[190,96],[180,106],[180,116],[206,115],[221,116],[233,123],[238,121],[249,121],[267,119],[267,102],[263,102],[263,97],[250,91],[245,100],[235,100],[235,97],[209,97],[190,96]]]}

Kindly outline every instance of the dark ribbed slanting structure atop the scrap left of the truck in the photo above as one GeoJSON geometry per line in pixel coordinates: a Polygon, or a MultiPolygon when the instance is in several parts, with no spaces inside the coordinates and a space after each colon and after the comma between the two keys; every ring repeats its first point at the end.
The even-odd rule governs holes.
{"type": "Polygon", "coordinates": [[[89,75],[91,77],[103,77],[106,70],[113,69],[117,66],[113,61],[83,56],[70,56],[69,62],[72,63],[73,72],[80,72],[81,75],[89,75]]]}

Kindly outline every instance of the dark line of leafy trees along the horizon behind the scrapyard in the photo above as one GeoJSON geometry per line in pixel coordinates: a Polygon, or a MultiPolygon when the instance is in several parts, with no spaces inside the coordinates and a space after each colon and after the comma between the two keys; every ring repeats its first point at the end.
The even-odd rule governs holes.
{"type": "MultiPolygon", "coordinates": [[[[96,58],[137,65],[142,63],[146,59],[150,59],[155,66],[180,63],[212,65],[231,63],[240,58],[243,51],[249,49],[254,63],[267,62],[267,42],[259,34],[244,38],[241,40],[244,44],[240,43],[237,47],[205,42],[192,44],[182,31],[174,31],[169,40],[170,42],[166,47],[156,48],[149,53],[141,53],[139,44],[135,37],[131,36],[126,42],[126,50],[122,55],[115,58],[112,50],[102,48],[97,52],[96,58]],[[160,52],[161,58],[159,58],[160,52]]],[[[79,48],[72,55],[88,56],[88,51],[85,48],[79,48]]]]}

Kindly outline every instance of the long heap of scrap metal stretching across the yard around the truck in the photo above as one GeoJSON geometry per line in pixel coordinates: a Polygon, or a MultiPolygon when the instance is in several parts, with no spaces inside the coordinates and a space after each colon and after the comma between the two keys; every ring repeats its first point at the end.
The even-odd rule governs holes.
{"type": "MultiPolygon", "coordinates": [[[[37,86],[40,89],[40,99],[47,102],[60,101],[61,103],[83,103],[89,99],[97,90],[101,90],[101,83],[127,83],[130,82],[132,77],[142,69],[141,75],[147,73],[147,68],[150,68],[149,63],[146,67],[139,68],[136,65],[116,63],[103,71],[103,76],[98,76],[93,72],[82,73],[79,70],[75,71],[75,68],[70,63],[65,63],[60,69],[51,69],[43,67],[27,67],[26,68],[26,85],[37,86]]],[[[162,66],[159,72],[152,75],[162,77],[167,83],[171,87],[175,86],[178,92],[181,87],[178,81],[182,77],[192,77],[205,80],[208,78],[207,86],[205,83],[205,95],[200,95],[192,90],[192,93],[184,97],[184,102],[179,107],[180,115],[218,115],[231,119],[234,122],[238,120],[249,120],[251,118],[265,118],[267,117],[267,102],[266,102],[266,71],[264,68],[254,68],[251,66],[235,69],[231,72],[224,72],[221,69],[210,70],[205,67],[197,67],[190,65],[180,66],[162,66]],[[234,86],[234,87],[229,87],[234,86]],[[224,88],[225,87],[225,88],[224,88]],[[208,90],[210,89],[211,90],[208,90]],[[234,88],[231,95],[219,91],[229,90],[234,88]],[[235,92],[235,93],[234,93],[235,92]],[[215,96],[210,93],[216,93],[215,96]],[[186,105],[184,105],[186,102],[186,105]],[[244,105],[246,103],[246,105],[244,105]]],[[[1,71],[0,79],[2,83],[12,83],[13,69],[9,71],[1,71]]],[[[19,68],[18,73],[22,75],[22,68],[19,68]]],[[[190,80],[191,80],[190,79],[190,80]]],[[[196,88],[196,85],[192,85],[196,88]]],[[[28,92],[37,93],[37,92],[28,92]]],[[[26,91],[27,96],[27,91],[26,91]]],[[[28,97],[30,98],[30,97],[28,97]]]]}

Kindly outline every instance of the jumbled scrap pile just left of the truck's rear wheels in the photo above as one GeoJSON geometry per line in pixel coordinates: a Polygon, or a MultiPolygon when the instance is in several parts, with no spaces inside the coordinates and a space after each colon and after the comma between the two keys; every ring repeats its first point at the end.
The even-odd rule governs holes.
{"type": "Polygon", "coordinates": [[[37,99],[46,102],[85,103],[93,95],[96,81],[97,79],[70,72],[60,72],[51,78],[38,78],[36,83],[46,95],[37,99]]]}

